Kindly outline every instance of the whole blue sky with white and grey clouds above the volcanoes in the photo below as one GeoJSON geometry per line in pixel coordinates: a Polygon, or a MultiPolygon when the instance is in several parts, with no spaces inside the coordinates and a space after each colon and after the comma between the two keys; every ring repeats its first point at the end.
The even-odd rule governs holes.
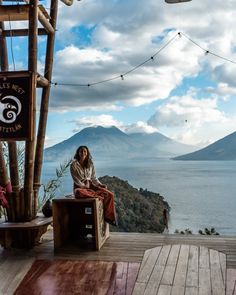
{"type": "Polygon", "coordinates": [[[94,125],[198,147],[235,131],[234,0],[74,1],[60,2],[47,146],[94,125]]]}

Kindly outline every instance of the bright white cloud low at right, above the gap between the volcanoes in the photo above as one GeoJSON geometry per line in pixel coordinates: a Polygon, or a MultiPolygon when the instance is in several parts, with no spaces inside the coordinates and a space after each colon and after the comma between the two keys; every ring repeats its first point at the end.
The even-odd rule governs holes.
{"type": "Polygon", "coordinates": [[[186,95],[159,106],[148,124],[177,141],[202,147],[234,132],[236,116],[220,111],[216,98],[186,95]]]}

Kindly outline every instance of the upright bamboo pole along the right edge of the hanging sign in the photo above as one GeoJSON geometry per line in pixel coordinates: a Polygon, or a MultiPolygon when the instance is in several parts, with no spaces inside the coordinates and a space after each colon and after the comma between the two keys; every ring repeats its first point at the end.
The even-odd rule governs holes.
{"type": "MultiPolygon", "coordinates": [[[[29,9],[29,48],[28,48],[28,69],[36,75],[37,73],[37,25],[38,25],[38,0],[30,0],[29,9]]],[[[35,155],[35,118],[36,118],[36,85],[32,89],[33,115],[32,127],[33,136],[26,142],[25,148],[25,219],[32,220],[33,216],[33,177],[34,177],[34,155],[35,155]]]]}

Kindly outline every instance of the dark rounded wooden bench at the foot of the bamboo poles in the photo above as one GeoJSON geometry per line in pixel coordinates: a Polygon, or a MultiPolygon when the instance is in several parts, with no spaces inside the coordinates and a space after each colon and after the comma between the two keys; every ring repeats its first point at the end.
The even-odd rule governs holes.
{"type": "Polygon", "coordinates": [[[6,222],[0,219],[0,244],[5,249],[33,248],[52,223],[52,217],[38,215],[28,222],[6,222]]]}

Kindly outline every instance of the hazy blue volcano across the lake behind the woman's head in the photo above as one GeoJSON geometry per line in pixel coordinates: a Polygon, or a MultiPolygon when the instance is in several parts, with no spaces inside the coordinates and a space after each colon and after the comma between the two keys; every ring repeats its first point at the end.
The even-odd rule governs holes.
{"type": "Polygon", "coordinates": [[[89,147],[99,158],[174,157],[196,150],[196,147],[176,142],[161,133],[127,134],[119,128],[87,127],[70,138],[46,148],[45,161],[72,158],[80,145],[89,147]]]}

